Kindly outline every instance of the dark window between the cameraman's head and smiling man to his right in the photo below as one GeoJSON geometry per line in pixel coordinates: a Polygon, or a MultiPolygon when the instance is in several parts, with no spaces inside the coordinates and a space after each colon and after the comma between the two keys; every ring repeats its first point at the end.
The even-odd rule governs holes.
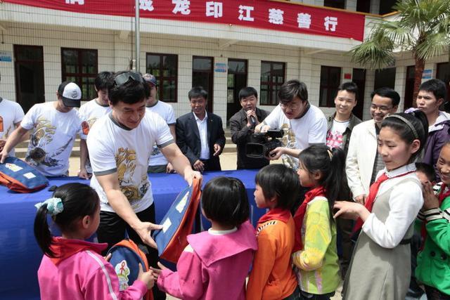
{"type": "Polygon", "coordinates": [[[340,85],[340,67],[321,66],[321,92],[319,105],[321,107],[334,107],[335,96],[340,85]]]}

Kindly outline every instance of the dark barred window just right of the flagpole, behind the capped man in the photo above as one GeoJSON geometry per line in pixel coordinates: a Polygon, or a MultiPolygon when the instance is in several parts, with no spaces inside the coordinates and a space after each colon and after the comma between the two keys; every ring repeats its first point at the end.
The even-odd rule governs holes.
{"type": "Polygon", "coordinates": [[[164,102],[176,102],[178,86],[178,56],[174,54],[147,53],[146,72],[156,77],[156,98],[164,102]]]}

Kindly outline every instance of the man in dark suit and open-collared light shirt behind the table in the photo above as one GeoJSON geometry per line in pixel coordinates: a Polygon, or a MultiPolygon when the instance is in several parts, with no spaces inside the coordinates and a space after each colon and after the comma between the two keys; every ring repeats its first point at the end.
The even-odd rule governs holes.
{"type": "Polygon", "coordinates": [[[222,120],[206,112],[208,93],[195,86],[188,93],[192,112],[176,119],[176,144],[196,171],[220,171],[219,155],[224,150],[222,120]]]}

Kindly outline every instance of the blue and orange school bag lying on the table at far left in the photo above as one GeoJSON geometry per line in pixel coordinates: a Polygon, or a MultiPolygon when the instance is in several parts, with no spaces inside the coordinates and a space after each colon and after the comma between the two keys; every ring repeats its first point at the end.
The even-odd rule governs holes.
{"type": "Polygon", "coordinates": [[[0,164],[0,184],[18,193],[32,193],[49,185],[49,180],[23,160],[6,157],[0,164]]]}

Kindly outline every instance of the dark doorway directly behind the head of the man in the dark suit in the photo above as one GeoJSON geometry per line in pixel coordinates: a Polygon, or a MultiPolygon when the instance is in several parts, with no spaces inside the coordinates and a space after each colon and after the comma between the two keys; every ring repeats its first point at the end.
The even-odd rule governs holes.
{"type": "Polygon", "coordinates": [[[212,70],[214,58],[207,56],[194,56],[192,58],[192,86],[203,86],[208,93],[207,112],[212,112],[213,105],[213,78],[212,70]]]}

